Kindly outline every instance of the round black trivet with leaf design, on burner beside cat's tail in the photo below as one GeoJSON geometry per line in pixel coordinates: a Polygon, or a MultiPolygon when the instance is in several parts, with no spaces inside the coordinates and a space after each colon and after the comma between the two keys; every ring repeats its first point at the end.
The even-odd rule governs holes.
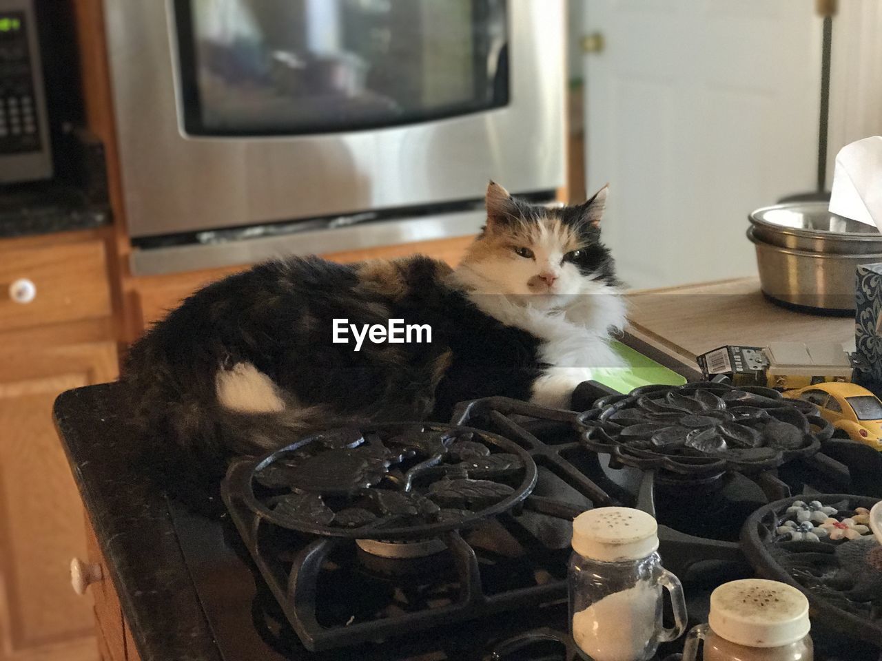
{"type": "Polygon", "coordinates": [[[497,434],[400,423],[337,429],[236,462],[224,488],[281,528],[390,543],[512,509],[536,475],[529,454],[497,434]]]}

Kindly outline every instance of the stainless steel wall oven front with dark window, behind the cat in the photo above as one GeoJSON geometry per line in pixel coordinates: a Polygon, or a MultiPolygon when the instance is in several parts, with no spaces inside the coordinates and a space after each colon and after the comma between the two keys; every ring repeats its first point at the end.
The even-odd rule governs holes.
{"type": "Polygon", "coordinates": [[[564,183],[564,0],[104,13],[136,271],[470,234],[488,179],[564,183]],[[236,234],[280,225],[307,231],[236,234]]]}

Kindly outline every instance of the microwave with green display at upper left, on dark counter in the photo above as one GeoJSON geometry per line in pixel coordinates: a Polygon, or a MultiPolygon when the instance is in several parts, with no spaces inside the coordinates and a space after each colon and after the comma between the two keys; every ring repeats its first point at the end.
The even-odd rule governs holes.
{"type": "Polygon", "coordinates": [[[0,183],[52,176],[34,0],[0,0],[0,183]]]}

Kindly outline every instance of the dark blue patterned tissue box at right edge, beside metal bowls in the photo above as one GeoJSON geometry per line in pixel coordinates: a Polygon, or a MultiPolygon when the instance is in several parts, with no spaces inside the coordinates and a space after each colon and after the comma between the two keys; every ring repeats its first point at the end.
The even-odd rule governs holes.
{"type": "Polygon", "coordinates": [[[882,264],[857,267],[856,381],[882,393],[882,264]]]}

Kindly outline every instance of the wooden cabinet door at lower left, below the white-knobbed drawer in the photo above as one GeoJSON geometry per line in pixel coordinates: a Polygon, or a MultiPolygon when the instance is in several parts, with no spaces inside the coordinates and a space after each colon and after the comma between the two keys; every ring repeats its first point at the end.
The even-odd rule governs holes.
{"type": "Polygon", "coordinates": [[[91,598],[71,590],[84,515],[52,404],[116,373],[110,342],[0,351],[0,661],[98,658],[91,598]]]}

